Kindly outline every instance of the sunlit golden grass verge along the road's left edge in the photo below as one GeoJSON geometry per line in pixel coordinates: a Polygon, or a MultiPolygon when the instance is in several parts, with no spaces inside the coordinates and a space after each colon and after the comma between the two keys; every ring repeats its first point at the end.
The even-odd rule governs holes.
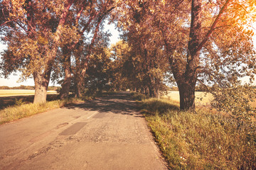
{"type": "Polygon", "coordinates": [[[83,102],[83,100],[80,98],[70,98],[62,101],[48,101],[44,104],[22,103],[22,101],[17,101],[16,106],[9,106],[8,108],[0,110],[0,125],[21,118],[26,118],[31,115],[36,115],[38,113],[43,113],[54,108],[60,108],[71,103],[79,102],[83,102]]]}

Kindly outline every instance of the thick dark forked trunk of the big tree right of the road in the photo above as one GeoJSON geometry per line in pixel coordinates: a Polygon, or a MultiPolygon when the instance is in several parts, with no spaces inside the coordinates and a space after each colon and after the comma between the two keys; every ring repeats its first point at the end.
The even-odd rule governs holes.
{"type": "Polygon", "coordinates": [[[183,111],[195,111],[195,88],[198,77],[197,67],[199,64],[198,46],[201,39],[201,4],[202,0],[192,0],[191,6],[191,29],[188,41],[188,54],[186,69],[181,71],[178,63],[174,63],[172,71],[178,84],[180,94],[180,109],[183,111]]]}

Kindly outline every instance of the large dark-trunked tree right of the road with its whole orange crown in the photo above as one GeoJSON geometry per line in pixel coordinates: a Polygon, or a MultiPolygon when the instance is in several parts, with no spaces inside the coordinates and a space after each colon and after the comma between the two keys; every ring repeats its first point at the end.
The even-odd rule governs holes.
{"type": "Polygon", "coordinates": [[[120,26],[135,27],[139,34],[147,28],[161,36],[164,47],[159,47],[168,56],[182,110],[195,110],[197,82],[234,86],[240,77],[254,73],[255,52],[248,26],[255,21],[255,1],[127,0],[119,8],[125,13],[120,26]]]}

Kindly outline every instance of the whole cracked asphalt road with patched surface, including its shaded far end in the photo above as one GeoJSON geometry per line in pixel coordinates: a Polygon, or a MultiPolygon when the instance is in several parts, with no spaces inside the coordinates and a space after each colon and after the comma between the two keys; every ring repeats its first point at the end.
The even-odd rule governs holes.
{"type": "Polygon", "coordinates": [[[0,125],[0,169],[167,169],[128,92],[0,125]]]}

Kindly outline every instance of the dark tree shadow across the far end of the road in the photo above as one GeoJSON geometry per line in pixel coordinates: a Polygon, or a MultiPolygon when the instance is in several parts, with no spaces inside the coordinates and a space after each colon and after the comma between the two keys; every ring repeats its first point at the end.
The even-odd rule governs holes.
{"type": "Polygon", "coordinates": [[[141,117],[137,111],[137,102],[132,100],[129,92],[119,92],[111,94],[111,96],[103,96],[93,101],[67,106],[65,108],[75,109],[82,108],[85,111],[98,111],[100,113],[112,112],[124,115],[134,115],[141,117]]]}

